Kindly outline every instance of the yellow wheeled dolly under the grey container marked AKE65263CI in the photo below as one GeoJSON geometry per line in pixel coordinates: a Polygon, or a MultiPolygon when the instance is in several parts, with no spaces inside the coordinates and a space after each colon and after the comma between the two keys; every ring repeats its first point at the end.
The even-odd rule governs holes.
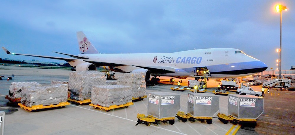
{"type": "Polygon", "coordinates": [[[200,116],[195,117],[195,116],[192,116],[190,113],[185,114],[182,111],[178,111],[178,113],[176,115],[178,117],[181,117],[180,120],[182,122],[186,122],[187,120],[184,120],[186,118],[186,119],[189,119],[189,121],[191,121],[191,122],[194,122],[195,119],[197,119],[197,120],[201,121],[202,123],[204,123],[205,120],[206,120],[207,124],[212,124],[212,118],[213,118],[213,117],[202,117],[202,116],[201,117],[200,116]]]}

